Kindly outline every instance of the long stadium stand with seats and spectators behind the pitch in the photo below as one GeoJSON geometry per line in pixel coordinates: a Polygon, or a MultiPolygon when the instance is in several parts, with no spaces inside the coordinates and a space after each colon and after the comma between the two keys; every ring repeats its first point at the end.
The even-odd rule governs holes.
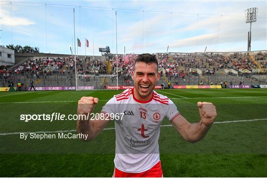
{"type": "MultiPolygon", "coordinates": [[[[267,84],[267,53],[156,53],[161,75],[159,83],[170,81],[172,85],[220,84],[227,81],[233,85],[267,84]]],[[[15,55],[16,57],[16,55],[15,55]]],[[[136,54],[118,55],[119,85],[133,85],[136,54]]],[[[1,66],[0,86],[8,87],[21,82],[24,89],[34,81],[35,86],[75,86],[75,62],[70,55],[39,54],[18,56],[20,59],[10,67],[1,66]]],[[[78,78],[84,86],[102,88],[116,85],[116,77],[97,77],[116,74],[116,55],[77,58],[77,74],[90,75],[78,78]]]]}

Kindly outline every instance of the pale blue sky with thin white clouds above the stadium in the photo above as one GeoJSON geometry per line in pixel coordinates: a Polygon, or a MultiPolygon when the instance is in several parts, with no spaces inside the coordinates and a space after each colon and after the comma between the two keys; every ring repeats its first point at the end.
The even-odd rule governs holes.
{"type": "Polygon", "coordinates": [[[267,50],[266,0],[0,0],[0,45],[96,56],[106,46],[113,54],[244,52],[251,7],[251,51],[267,50]]]}

